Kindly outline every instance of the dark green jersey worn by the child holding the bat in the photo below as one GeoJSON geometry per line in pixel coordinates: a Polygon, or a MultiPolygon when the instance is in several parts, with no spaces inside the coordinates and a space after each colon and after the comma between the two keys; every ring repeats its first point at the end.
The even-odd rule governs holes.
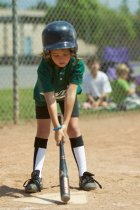
{"type": "Polygon", "coordinates": [[[64,68],[57,67],[51,59],[42,58],[37,70],[38,78],[34,88],[34,99],[37,105],[45,102],[44,93],[55,92],[56,100],[64,100],[69,84],[76,84],[77,94],[82,89],[80,84],[83,80],[84,63],[82,60],[71,58],[64,68]]]}

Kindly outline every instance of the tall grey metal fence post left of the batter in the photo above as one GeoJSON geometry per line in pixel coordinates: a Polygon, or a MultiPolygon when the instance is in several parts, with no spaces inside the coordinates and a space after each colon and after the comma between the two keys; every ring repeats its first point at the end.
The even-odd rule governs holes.
{"type": "Polygon", "coordinates": [[[12,0],[13,19],[13,122],[19,120],[19,89],[18,89],[18,15],[17,0],[12,0]]]}

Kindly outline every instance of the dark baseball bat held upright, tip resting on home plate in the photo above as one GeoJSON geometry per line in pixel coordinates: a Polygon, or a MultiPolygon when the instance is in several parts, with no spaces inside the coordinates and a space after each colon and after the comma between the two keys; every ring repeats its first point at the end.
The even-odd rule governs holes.
{"type": "MultiPolygon", "coordinates": [[[[58,120],[60,125],[62,124],[62,117],[58,115],[58,120]]],[[[62,139],[59,144],[59,182],[60,182],[60,196],[61,200],[64,203],[67,203],[70,200],[70,187],[69,187],[69,177],[68,170],[64,152],[64,140],[62,139]]]]}

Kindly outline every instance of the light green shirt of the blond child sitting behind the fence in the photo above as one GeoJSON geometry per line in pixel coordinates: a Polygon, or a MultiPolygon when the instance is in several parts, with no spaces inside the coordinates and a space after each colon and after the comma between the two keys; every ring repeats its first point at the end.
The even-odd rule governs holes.
{"type": "Polygon", "coordinates": [[[120,104],[128,96],[129,84],[124,79],[117,79],[112,83],[112,90],[113,101],[120,104]]]}

